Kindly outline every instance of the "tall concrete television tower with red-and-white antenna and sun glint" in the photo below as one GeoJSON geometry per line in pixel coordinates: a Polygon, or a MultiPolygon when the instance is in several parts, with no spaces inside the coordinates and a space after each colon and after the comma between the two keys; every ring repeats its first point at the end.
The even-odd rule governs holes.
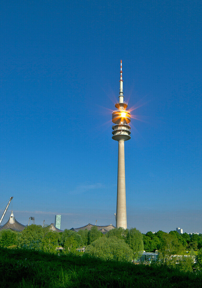
{"type": "Polygon", "coordinates": [[[123,101],[123,79],[122,79],[122,60],[120,71],[120,92],[119,102],[115,104],[117,110],[112,112],[112,139],[118,141],[118,180],[117,180],[117,203],[116,203],[116,228],[127,228],[126,219],[126,184],[125,184],[125,156],[124,142],[131,139],[131,113],[126,110],[128,103],[123,101]]]}

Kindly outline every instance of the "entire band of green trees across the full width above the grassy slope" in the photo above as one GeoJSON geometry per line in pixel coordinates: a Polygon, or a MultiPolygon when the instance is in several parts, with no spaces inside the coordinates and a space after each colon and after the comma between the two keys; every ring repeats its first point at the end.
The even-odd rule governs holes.
{"type": "Polygon", "coordinates": [[[75,232],[65,229],[64,232],[58,233],[50,230],[48,226],[42,228],[40,225],[32,224],[22,232],[0,231],[0,245],[49,252],[54,252],[59,245],[66,252],[74,252],[76,249],[86,247],[86,253],[101,257],[133,257],[137,259],[143,250],[146,252],[159,250],[166,255],[182,254],[184,250],[197,251],[202,248],[202,235],[178,234],[176,231],[165,233],[161,230],[156,233],[141,234],[136,228],[112,229],[103,235],[96,226],[91,230],[75,232]]]}

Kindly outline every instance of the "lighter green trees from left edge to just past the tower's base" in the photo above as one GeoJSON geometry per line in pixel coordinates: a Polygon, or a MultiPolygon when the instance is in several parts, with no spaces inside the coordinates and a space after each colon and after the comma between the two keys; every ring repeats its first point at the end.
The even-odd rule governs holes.
{"type": "Polygon", "coordinates": [[[123,228],[113,229],[103,235],[97,227],[91,230],[75,232],[65,229],[64,232],[53,232],[49,227],[40,225],[27,226],[22,232],[2,230],[0,245],[54,252],[57,246],[65,252],[74,252],[86,247],[86,253],[108,258],[137,258],[144,250],[143,236],[139,230],[123,228]]]}

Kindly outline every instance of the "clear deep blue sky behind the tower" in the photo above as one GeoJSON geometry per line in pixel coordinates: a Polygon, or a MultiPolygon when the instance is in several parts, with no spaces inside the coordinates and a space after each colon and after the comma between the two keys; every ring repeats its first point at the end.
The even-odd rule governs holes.
{"type": "Polygon", "coordinates": [[[14,196],[24,224],[57,213],[62,229],[115,225],[122,59],[124,100],[141,120],[125,143],[127,222],[202,233],[201,1],[1,1],[0,11],[0,202],[14,196]]]}

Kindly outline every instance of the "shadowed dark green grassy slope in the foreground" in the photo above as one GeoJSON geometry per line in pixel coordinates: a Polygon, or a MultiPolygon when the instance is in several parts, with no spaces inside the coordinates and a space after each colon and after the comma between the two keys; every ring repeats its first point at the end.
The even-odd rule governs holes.
{"type": "Polygon", "coordinates": [[[165,266],[0,248],[0,287],[201,287],[201,274],[165,266]]]}

